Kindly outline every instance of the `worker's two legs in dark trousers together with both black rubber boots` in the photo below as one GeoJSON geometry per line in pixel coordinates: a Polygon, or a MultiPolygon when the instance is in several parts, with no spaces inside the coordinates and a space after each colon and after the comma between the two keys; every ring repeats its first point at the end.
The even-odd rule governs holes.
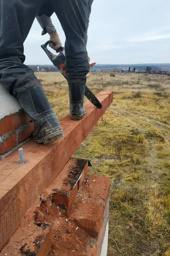
{"type": "MultiPolygon", "coordinates": [[[[71,119],[82,119],[86,75],[89,72],[85,38],[93,0],[0,0],[0,82],[34,121],[33,139],[48,143],[63,136],[40,80],[24,63],[23,43],[36,15],[55,12],[65,32],[65,69],[71,119]]],[[[55,31],[50,33],[53,41],[55,31]],[[53,34],[54,33],[54,34],[53,34]]]]}

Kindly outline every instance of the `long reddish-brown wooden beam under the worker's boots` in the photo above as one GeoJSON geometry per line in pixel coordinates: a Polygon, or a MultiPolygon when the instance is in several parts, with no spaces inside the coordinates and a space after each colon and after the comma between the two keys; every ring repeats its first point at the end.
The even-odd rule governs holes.
{"type": "Polygon", "coordinates": [[[85,103],[87,114],[79,121],[70,116],[60,120],[65,136],[47,145],[37,145],[33,141],[23,146],[25,164],[19,163],[15,151],[0,161],[0,250],[13,235],[26,211],[34,204],[38,195],[57,177],[72,154],[94,127],[99,118],[111,105],[112,91],[102,91],[97,95],[102,109],[91,102],[85,103]]]}

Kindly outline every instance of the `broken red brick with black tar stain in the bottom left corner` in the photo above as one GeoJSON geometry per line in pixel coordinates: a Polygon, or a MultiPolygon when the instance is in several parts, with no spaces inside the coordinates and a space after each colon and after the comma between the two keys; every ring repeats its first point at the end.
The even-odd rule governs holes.
{"type": "Polygon", "coordinates": [[[34,220],[31,220],[21,224],[0,252],[0,256],[46,256],[53,244],[51,223],[41,223],[41,226],[37,226],[34,220]]]}

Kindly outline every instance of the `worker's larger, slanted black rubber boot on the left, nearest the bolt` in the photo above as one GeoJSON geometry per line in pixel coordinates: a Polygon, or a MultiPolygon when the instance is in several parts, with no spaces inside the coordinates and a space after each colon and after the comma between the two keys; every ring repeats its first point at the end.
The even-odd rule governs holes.
{"type": "Polygon", "coordinates": [[[48,143],[64,136],[57,116],[52,110],[41,85],[26,90],[19,98],[20,105],[34,121],[33,140],[48,143]]]}

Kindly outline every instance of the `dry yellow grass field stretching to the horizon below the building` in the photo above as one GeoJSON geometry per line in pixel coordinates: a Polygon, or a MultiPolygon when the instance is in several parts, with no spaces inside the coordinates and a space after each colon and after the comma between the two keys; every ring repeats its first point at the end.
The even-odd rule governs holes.
{"type": "MultiPolygon", "coordinates": [[[[66,81],[37,77],[60,119],[69,112],[66,81]]],[[[74,154],[91,161],[90,174],[111,177],[108,256],[170,256],[170,77],[89,73],[87,84],[114,91],[74,154]]]]}

